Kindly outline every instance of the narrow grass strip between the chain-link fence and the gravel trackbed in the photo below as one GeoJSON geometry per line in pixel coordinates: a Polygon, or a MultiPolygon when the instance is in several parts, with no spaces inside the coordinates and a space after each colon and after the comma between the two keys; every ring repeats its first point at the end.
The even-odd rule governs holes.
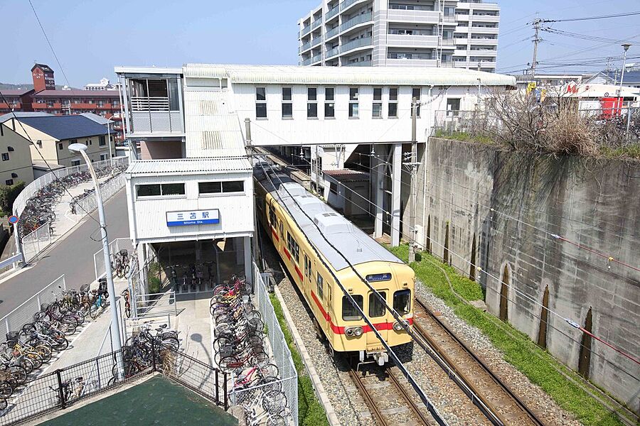
{"type": "Polygon", "coordinates": [[[298,372],[298,424],[302,426],[329,426],[324,408],[314,392],[311,378],[306,374],[302,356],[298,353],[291,331],[287,326],[287,321],[284,320],[284,313],[282,312],[280,301],[276,295],[272,294],[269,295],[269,297],[278,322],[280,323],[280,328],[282,328],[284,339],[287,341],[287,346],[289,346],[289,350],[291,351],[296,371],[298,372]]]}

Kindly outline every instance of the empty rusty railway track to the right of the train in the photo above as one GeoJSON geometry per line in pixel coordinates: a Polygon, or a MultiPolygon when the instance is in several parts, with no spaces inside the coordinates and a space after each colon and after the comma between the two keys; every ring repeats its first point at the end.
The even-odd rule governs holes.
{"type": "Polygon", "coordinates": [[[414,312],[413,324],[417,334],[457,373],[474,394],[471,398],[477,397],[476,405],[491,422],[496,425],[545,426],[518,395],[417,298],[414,312]]]}

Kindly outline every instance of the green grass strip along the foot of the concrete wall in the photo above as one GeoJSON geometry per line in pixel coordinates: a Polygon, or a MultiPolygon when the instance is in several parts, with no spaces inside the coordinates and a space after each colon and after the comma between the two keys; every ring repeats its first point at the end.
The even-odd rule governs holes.
{"type": "MultiPolygon", "coordinates": [[[[395,256],[407,261],[409,249],[406,244],[388,249],[395,256]]],[[[503,352],[505,361],[521,371],[532,383],[543,388],[560,407],[573,413],[583,425],[622,425],[614,413],[610,413],[604,405],[594,400],[558,370],[580,381],[575,372],[560,364],[547,351],[540,349],[526,334],[467,304],[455,294],[458,293],[466,300],[482,300],[482,288],[478,283],[459,275],[454,268],[428,253],[420,253],[420,261],[412,263],[411,267],[416,278],[452,307],[458,317],[489,337],[494,346],[503,352]],[[451,286],[440,268],[446,271],[451,286]]]]}

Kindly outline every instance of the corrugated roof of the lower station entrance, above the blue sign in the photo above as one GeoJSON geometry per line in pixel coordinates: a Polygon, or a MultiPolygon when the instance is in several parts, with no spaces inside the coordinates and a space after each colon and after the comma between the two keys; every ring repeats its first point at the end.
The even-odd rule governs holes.
{"type": "Polygon", "coordinates": [[[201,175],[252,170],[247,157],[176,158],[171,160],[137,160],[129,164],[129,175],[201,175]]]}

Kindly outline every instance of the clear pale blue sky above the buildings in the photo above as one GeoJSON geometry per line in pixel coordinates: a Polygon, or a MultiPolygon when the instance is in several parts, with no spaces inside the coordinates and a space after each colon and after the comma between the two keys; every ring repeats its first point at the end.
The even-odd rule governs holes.
{"type": "MultiPolygon", "coordinates": [[[[319,0],[31,1],[62,68],[28,0],[0,0],[4,27],[0,82],[31,82],[29,70],[34,61],[53,67],[56,84],[73,87],[99,82],[102,77],[114,80],[117,65],[295,65],[297,20],[319,4],[319,0]]],[[[560,19],[640,11],[639,0],[497,2],[501,6],[498,72],[520,73],[528,66],[533,55],[530,21],[536,12],[540,18],[560,19]]],[[[538,68],[545,72],[597,71],[609,56],[612,66],[620,67],[622,47],[617,40],[622,39],[636,44],[629,49],[628,62],[640,62],[638,15],[544,25],[582,38],[608,39],[541,33],[538,68]],[[575,65],[585,61],[592,63],[575,65]]]]}

